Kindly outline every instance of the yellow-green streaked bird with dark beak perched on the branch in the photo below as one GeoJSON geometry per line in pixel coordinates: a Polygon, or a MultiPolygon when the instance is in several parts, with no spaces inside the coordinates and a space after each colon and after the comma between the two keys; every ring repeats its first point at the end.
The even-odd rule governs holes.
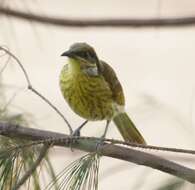
{"type": "Polygon", "coordinates": [[[79,135],[88,121],[106,121],[102,138],[111,121],[126,142],[146,144],[145,139],[125,111],[125,97],[115,71],[98,58],[95,49],[77,42],[61,54],[68,58],[60,72],[61,93],[70,108],[86,121],[75,130],[79,135]]]}

